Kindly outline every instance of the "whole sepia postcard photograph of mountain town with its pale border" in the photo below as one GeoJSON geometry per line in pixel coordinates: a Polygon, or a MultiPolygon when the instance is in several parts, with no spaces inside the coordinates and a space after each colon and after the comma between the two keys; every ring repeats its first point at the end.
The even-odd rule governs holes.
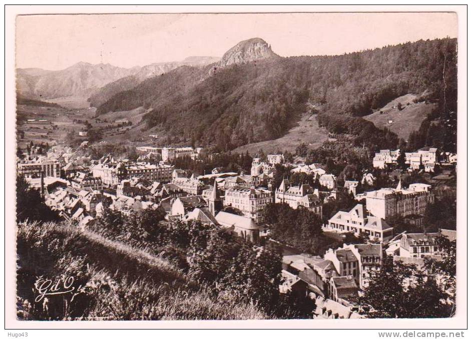
{"type": "Polygon", "coordinates": [[[457,317],[457,12],[78,7],[11,26],[17,326],[457,317]]]}

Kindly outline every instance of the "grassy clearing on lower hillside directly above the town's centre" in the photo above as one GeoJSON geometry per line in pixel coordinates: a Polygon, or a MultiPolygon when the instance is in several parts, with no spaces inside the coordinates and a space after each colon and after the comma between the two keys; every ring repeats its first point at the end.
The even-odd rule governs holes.
{"type": "Polygon", "coordinates": [[[308,144],[309,148],[316,148],[328,139],[328,134],[325,129],[318,126],[316,117],[313,114],[305,114],[302,116],[297,125],[290,128],[288,132],[274,140],[267,140],[238,147],[234,152],[246,152],[250,154],[256,153],[262,149],[266,154],[273,153],[277,150],[288,150],[294,152],[295,148],[301,142],[308,144]]]}

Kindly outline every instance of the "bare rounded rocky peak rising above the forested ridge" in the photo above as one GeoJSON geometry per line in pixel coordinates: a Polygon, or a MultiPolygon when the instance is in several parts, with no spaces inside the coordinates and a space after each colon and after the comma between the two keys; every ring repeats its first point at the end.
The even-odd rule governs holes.
{"type": "Polygon", "coordinates": [[[280,57],[275,54],[270,45],[259,37],[244,40],[230,48],[218,62],[219,67],[239,64],[254,60],[280,57]]]}

